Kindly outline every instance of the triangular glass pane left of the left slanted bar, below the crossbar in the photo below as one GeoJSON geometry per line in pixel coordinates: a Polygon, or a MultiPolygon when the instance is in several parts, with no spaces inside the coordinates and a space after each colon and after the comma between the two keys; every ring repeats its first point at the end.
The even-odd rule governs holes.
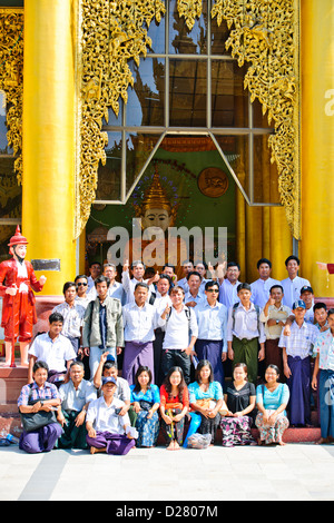
{"type": "Polygon", "coordinates": [[[159,138],[160,135],[144,135],[143,132],[126,134],[127,191],[130,190],[131,185],[143,169],[159,138]]]}

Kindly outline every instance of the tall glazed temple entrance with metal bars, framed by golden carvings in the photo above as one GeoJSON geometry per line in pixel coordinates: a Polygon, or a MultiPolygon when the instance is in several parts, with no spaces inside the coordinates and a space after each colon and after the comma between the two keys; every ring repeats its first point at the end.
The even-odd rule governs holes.
{"type": "MultiPolygon", "coordinates": [[[[225,227],[224,256],[243,258],[243,266],[249,218],[243,206],[258,207],[250,219],[259,224],[265,206],[279,205],[277,169],[268,148],[273,128],[261,103],[252,102],[244,87],[247,66],[239,67],[226,51],[227,26],[217,26],[210,7],[203,2],[203,16],[189,29],[176,0],[166,2],[166,16],[149,27],[149,52],[139,63],[128,63],[134,79],[128,98],[120,100],[118,115],[110,109],[102,122],[107,161],[99,166],[86,227],[87,264],[108,259],[110,228],[125,228],[132,238],[132,219],[145,217],[155,172],[166,193],[167,211],[168,206],[173,209],[169,226],[199,227],[202,233],[214,228],[216,250],[218,227],[225,227]]],[[[262,237],[253,225],[252,230],[262,237]]],[[[263,246],[257,248],[261,257],[263,246]]],[[[194,245],[188,256],[212,262],[194,245]]]]}

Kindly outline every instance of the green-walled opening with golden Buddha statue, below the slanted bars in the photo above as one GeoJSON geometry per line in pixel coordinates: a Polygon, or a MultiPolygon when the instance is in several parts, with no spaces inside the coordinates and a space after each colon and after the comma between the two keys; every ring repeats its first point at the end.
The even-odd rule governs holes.
{"type": "MultiPolygon", "coordinates": [[[[206,136],[166,136],[143,172],[140,179],[125,205],[95,204],[87,225],[87,259],[101,264],[116,263],[121,268],[120,259],[134,256],[143,257],[155,236],[147,238],[148,227],[160,227],[165,234],[164,258],[157,259],[157,248],[146,249],[146,265],[160,270],[165,263],[178,267],[187,258],[196,262],[214,263],[218,254],[223,258],[235,257],[235,195],[236,184],[230,174],[232,166],[239,161],[235,139],[224,137],[224,161],[215,144],[206,136]],[[228,161],[229,160],[229,161],[228,161]],[[143,236],[141,250],[134,253],[134,220],[140,220],[143,236]],[[112,250],[118,238],[110,240],[110,229],[115,226],[127,230],[130,240],[128,255],[112,250]],[[177,245],[168,244],[168,230],[177,228],[177,245]],[[226,238],[219,238],[223,233],[226,238]],[[109,239],[108,239],[109,233],[109,239]],[[187,243],[187,234],[189,241],[187,243]],[[200,236],[199,240],[197,239],[200,236]],[[186,236],[183,244],[183,236],[186,236]],[[209,249],[208,240],[214,243],[209,249]],[[225,241],[224,241],[225,240],[225,241]],[[177,254],[171,251],[177,248],[177,254]],[[205,259],[212,253],[215,258],[205,259]],[[220,253],[218,253],[220,250],[220,253]]],[[[112,152],[110,152],[110,156],[112,152]]],[[[99,195],[108,198],[109,169],[106,177],[99,178],[99,195]]]]}

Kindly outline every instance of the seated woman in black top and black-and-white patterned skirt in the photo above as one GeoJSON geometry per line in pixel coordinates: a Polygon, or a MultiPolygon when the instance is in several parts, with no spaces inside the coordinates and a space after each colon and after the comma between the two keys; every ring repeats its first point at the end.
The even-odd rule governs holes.
{"type": "Polygon", "coordinates": [[[255,385],[247,382],[245,363],[234,367],[233,382],[227,386],[224,399],[227,414],[220,421],[223,446],[256,444],[250,433],[256,393],[255,385]]]}

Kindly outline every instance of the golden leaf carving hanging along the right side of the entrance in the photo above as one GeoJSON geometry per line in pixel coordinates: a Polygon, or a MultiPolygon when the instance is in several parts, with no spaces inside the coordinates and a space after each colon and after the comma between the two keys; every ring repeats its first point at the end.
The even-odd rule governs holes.
{"type": "Polygon", "coordinates": [[[278,169],[278,189],[287,223],[301,238],[299,182],[299,4],[298,0],[216,0],[212,17],[232,29],[226,48],[238,65],[249,63],[244,79],[275,134],[268,138],[278,169]]]}

